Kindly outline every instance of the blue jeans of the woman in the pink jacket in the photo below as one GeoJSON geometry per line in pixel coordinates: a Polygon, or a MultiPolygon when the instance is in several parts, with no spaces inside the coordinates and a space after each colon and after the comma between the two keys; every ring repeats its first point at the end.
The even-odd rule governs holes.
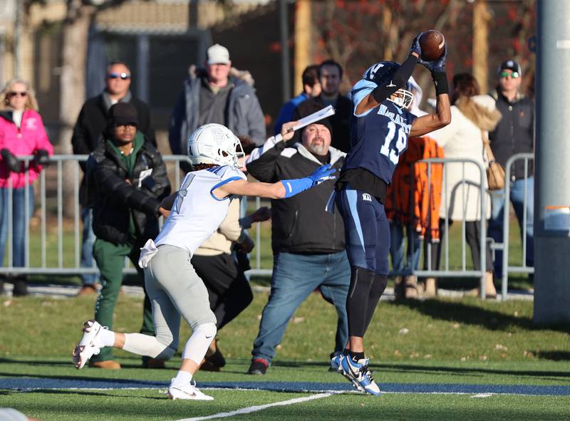
{"type": "MultiPolygon", "coordinates": [[[[24,210],[26,203],[26,188],[14,189],[12,193],[12,266],[26,266],[26,224],[33,214],[33,186],[28,186],[28,209],[24,210]]],[[[8,200],[9,189],[0,188],[0,266],[4,266],[4,251],[6,251],[6,239],[8,239],[8,200]]],[[[8,264],[10,266],[10,264],[8,264]]]]}

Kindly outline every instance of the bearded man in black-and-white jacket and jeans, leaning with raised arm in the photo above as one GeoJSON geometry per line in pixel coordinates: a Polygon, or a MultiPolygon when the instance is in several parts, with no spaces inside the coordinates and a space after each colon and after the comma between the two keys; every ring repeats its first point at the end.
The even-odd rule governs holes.
{"type": "MultiPolygon", "coordinates": [[[[281,134],[294,124],[285,123],[281,134]]],[[[304,128],[302,144],[296,143],[293,147],[286,147],[285,142],[269,137],[263,146],[252,152],[247,170],[261,182],[304,177],[326,163],[340,170],[346,154],[330,145],[330,123],[321,120],[304,128]]],[[[271,246],[274,254],[271,295],[254,341],[250,374],[266,372],[289,319],[317,288],[338,313],[331,358],[341,353],[346,345],[346,296],[351,270],[346,257],[341,215],[336,210],[334,214],[325,210],[334,183],[328,181],[323,184],[311,194],[271,200],[271,246]]]]}

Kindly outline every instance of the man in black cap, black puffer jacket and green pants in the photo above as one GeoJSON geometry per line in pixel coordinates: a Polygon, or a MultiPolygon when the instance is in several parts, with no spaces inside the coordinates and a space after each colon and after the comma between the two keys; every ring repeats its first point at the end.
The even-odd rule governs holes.
{"type": "MultiPolygon", "coordinates": [[[[93,203],[93,232],[97,237],[93,256],[103,280],[95,320],[111,328],[126,256],[144,285],[144,273],[138,266],[140,247],[158,235],[158,217],[167,215],[160,201],[170,194],[170,182],[160,152],[137,130],[135,107],[120,102],[110,108],[109,114],[105,140],[99,142],[87,162],[87,177],[89,200],[93,203]]],[[[140,333],[155,334],[146,293],[140,333]]],[[[143,358],[146,366],[160,363],[143,358]]],[[[89,364],[120,368],[113,361],[111,348],[103,348],[89,364]]]]}

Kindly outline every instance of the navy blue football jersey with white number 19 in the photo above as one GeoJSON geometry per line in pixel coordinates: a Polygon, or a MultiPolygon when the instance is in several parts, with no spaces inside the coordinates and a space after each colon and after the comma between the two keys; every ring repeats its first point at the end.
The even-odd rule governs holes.
{"type": "Polygon", "coordinates": [[[415,115],[384,100],[366,115],[351,119],[351,150],[341,172],[364,168],[386,184],[398,159],[408,149],[408,135],[415,115]]]}

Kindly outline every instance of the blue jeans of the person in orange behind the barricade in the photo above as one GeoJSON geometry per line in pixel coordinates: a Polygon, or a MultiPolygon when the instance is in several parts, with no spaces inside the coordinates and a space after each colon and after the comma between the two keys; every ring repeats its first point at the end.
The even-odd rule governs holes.
{"type": "Polygon", "coordinates": [[[408,234],[408,253],[404,263],[404,226],[400,222],[390,222],[390,256],[394,271],[411,274],[420,264],[420,237],[413,227],[405,227],[408,234]],[[413,251],[412,251],[413,245],[413,251]],[[413,262],[413,264],[412,264],[413,262]]]}

